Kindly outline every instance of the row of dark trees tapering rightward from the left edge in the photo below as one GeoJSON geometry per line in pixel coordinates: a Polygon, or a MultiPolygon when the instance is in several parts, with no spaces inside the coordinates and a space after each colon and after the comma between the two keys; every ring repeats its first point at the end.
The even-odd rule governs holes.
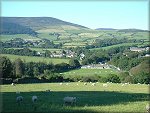
{"type": "Polygon", "coordinates": [[[70,59],[69,64],[60,63],[54,65],[53,63],[47,64],[45,62],[25,62],[20,58],[12,62],[9,58],[0,56],[2,78],[41,77],[44,75],[46,77],[47,73],[60,73],[79,67],[80,63],[77,59],[70,59]]]}

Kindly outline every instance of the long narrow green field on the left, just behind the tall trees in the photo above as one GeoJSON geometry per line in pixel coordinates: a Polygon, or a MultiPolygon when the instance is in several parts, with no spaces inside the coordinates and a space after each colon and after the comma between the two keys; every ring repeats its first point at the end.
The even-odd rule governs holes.
{"type": "Polygon", "coordinates": [[[53,64],[69,62],[69,59],[63,59],[63,58],[44,58],[44,57],[19,56],[19,55],[10,55],[10,54],[1,54],[1,56],[7,56],[12,61],[14,61],[17,58],[20,58],[26,62],[46,62],[46,63],[53,63],[53,64]]]}

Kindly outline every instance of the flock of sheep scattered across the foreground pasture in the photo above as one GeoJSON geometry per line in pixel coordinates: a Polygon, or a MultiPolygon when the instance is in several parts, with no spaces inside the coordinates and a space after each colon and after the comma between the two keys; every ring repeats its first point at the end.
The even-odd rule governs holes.
{"type": "MultiPolygon", "coordinates": [[[[97,83],[92,83],[92,82],[90,82],[90,83],[91,83],[91,86],[95,86],[97,84],[97,83]]],[[[108,87],[109,83],[111,83],[111,82],[104,83],[103,87],[108,87]]],[[[59,83],[59,84],[63,85],[64,83],[59,83]]],[[[83,83],[83,85],[87,85],[87,84],[88,83],[83,83]]],[[[122,84],[122,86],[128,85],[128,84],[129,83],[124,83],[124,84],[122,84]]],[[[11,85],[15,86],[14,83],[12,83],[11,85]]],[[[69,83],[66,83],[66,85],[69,85],[69,83]]],[[[77,85],[79,85],[79,84],[77,83],[77,85]]],[[[51,92],[51,90],[46,90],[46,92],[51,92]]],[[[20,92],[17,91],[16,94],[20,94],[20,92]]],[[[37,102],[37,100],[38,100],[38,97],[36,95],[33,95],[32,98],[31,98],[32,103],[34,104],[35,102],[37,102]]],[[[16,102],[19,105],[21,104],[22,101],[23,101],[23,96],[19,95],[19,96],[16,97],[16,102]]],[[[77,101],[76,97],[67,96],[67,97],[63,98],[64,105],[76,105],[76,101],[77,101]]],[[[146,105],[146,110],[147,110],[148,113],[150,112],[150,105],[149,104],[146,105]]]]}

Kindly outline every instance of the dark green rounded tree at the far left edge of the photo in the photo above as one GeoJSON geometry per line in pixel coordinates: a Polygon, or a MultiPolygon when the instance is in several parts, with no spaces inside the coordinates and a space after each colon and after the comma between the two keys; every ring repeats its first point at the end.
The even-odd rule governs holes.
{"type": "Polygon", "coordinates": [[[7,57],[0,57],[0,75],[2,78],[12,77],[12,63],[7,57]]]}

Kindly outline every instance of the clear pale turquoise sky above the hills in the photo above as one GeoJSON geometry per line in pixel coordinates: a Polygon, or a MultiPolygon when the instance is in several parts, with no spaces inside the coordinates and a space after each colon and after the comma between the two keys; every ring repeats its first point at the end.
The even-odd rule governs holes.
{"type": "Polygon", "coordinates": [[[91,29],[149,30],[149,0],[1,0],[1,16],[54,17],[91,29]]]}

